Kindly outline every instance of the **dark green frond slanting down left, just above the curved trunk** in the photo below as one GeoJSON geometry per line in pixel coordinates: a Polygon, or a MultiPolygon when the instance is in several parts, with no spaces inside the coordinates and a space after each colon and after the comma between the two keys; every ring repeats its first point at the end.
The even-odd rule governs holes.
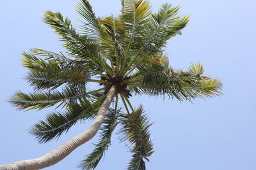
{"type": "Polygon", "coordinates": [[[40,120],[31,127],[31,134],[40,143],[46,143],[54,138],[60,138],[61,134],[68,132],[77,122],[95,117],[100,103],[92,104],[86,100],[68,105],[67,111],[58,111],[48,114],[45,120],[40,120]]]}

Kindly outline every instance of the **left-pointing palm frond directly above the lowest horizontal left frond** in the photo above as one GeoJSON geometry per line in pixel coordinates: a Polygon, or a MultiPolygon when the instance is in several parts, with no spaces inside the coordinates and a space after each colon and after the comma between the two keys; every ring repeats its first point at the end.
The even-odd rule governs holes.
{"type": "MultiPolygon", "coordinates": [[[[48,54],[54,55],[54,57],[57,56],[54,53],[48,54]]],[[[72,62],[60,63],[49,58],[44,60],[36,55],[38,53],[23,53],[22,59],[23,65],[29,69],[25,78],[35,90],[52,90],[64,83],[84,85],[84,81],[90,79],[90,74],[92,74],[90,71],[81,66],[74,65],[72,62]]],[[[49,55],[44,57],[49,57],[49,55]]],[[[65,58],[62,57],[61,59],[65,58]]]]}

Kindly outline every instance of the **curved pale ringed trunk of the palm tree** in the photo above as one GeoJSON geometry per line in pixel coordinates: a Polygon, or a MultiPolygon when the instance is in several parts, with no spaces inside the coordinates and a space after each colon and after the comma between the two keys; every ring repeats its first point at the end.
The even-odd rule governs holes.
{"type": "Polygon", "coordinates": [[[67,157],[69,153],[75,150],[78,146],[83,145],[87,141],[93,138],[95,134],[100,129],[100,125],[102,124],[106,111],[108,110],[113,97],[115,96],[117,91],[116,85],[113,85],[109,90],[106,99],[100,106],[100,109],[97,113],[97,117],[93,121],[92,125],[90,125],[89,129],[87,129],[82,134],[75,136],[74,138],[69,139],[66,143],[63,143],[60,147],[52,150],[51,152],[46,153],[40,158],[37,159],[29,159],[29,160],[21,160],[19,162],[14,162],[8,165],[0,166],[1,170],[32,170],[32,169],[42,169],[44,167],[52,166],[59,162],[60,160],[67,157]]]}

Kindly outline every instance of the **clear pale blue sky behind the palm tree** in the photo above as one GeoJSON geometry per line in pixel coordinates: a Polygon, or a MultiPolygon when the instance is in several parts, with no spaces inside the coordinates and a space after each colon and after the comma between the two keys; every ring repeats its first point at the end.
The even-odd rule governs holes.
{"type": "MultiPolygon", "coordinates": [[[[182,36],[167,46],[170,65],[187,69],[191,62],[201,62],[206,75],[223,81],[224,95],[197,99],[193,104],[134,97],[132,104],[142,103],[154,122],[150,132],[155,152],[147,169],[256,169],[256,1],[151,0],[153,10],[166,2],[180,5],[180,15],[191,15],[182,36]]],[[[119,0],[93,0],[91,4],[100,17],[117,15],[121,9],[119,0]]],[[[76,125],[58,141],[39,144],[28,129],[50,110],[15,111],[6,102],[17,90],[31,92],[22,79],[26,70],[20,64],[20,53],[30,48],[63,51],[53,30],[42,22],[43,12],[61,11],[77,25],[76,1],[1,1],[0,8],[0,164],[10,164],[44,155],[83,132],[90,122],[76,125]]],[[[131,154],[116,138],[97,169],[126,169],[131,154]]],[[[77,169],[96,142],[97,137],[45,169],[77,169]]]]}

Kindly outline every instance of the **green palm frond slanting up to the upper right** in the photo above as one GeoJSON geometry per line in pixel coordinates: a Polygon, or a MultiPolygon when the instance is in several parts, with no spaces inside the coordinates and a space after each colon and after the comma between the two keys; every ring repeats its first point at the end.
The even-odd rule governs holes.
{"type": "Polygon", "coordinates": [[[148,17],[144,30],[140,34],[141,39],[137,40],[135,57],[129,62],[125,72],[141,62],[143,57],[161,53],[167,40],[179,34],[180,30],[186,26],[189,17],[177,16],[178,11],[179,7],[172,8],[170,4],[163,4],[158,13],[148,17]]]}

